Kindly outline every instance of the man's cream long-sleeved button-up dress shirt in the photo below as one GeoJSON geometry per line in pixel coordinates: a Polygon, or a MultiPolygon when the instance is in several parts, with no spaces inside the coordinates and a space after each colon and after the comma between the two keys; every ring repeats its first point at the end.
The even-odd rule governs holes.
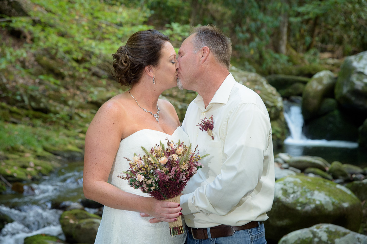
{"type": "Polygon", "coordinates": [[[268,219],[275,186],[272,128],[259,95],[229,74],[207,108],[200,95],[190,103],[182,127],[192,147],[209,154],[181,196],[186,224],[209,228],[268,219]],[[211,115],[214,140],[196,126],[211,115]]]}

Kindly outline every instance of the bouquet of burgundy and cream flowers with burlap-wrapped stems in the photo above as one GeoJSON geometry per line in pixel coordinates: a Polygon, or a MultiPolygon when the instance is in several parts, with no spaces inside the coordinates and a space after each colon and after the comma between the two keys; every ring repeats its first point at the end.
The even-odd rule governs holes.
{"type": "MultiPolygon", "coordinates": [[[[134,153],[130,161],[130,170],[124,171],[118,177],[128,180],[128,185],[158,200],[180,203],[180,193],[190,178],[202,167],[199,160],[208,156],[200,156],[197,146],[191,150],[191,144],[184,142],[175,144],[167,140],[167,147],[160,141],[142,157],[134,153]],[[195,153],[197,149],[197,154],[195,153]],[[124,176],[126,174],[126,176],[124,176]]],[[[183,233],[181,216],[177,221],[170,222],[171,236],[183,233]]]]}

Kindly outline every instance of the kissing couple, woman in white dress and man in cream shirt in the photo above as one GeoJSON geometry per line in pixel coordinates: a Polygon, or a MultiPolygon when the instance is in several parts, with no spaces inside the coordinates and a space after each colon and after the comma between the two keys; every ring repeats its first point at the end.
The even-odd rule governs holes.
{"type": "Polygon", "coordinates": [[[157,30],[134,33],[113,54],[115,78],[130,89],[106,101],[85,141],[83,190],[103,204],[95,244],[265,244],[264,223],[274,198],[272,128],[257,93],[229,72],[232,44],[215,26],[200,26],[176,56],[157,30]],[[161,93],[178,86],[198,93],[180,126],[161,93]],[[211,118],[212,132],[200,122],[211,118]],[[134,153],[158,141],[198,145],[203,167],[181,203],[160,201],[117,177],[134,153]],[[182,215],[183,234],[168,222],[182,215]]]}

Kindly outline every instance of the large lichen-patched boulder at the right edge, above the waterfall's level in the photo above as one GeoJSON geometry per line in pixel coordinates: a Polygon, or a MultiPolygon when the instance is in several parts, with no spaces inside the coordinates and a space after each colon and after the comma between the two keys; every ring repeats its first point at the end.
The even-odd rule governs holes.
{"type": "Polygon", "coordinates": [[[367,51],[345,58],[335,85],[335,98],[342,107],[367,114],[367,51]]]}

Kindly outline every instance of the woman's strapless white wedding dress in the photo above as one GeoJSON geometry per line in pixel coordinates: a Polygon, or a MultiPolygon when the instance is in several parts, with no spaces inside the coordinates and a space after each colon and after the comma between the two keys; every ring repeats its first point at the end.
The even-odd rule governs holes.
{"type": "MultiPolygon", "coordinates": [[[[127,180],[118,178],[117,175],[130,169],[129,162],[124,157],[132,159],[134,152],[143,156],[144,152],[141,146],[149,151],[156,144],[159,145],[159,141],[166,145],[166,137],[170,141],[173,140],[176,144],[178,139],[184,141],[185,144],[189,143],[189,137],[181,127],[178,127],[172,136],[157,130],[143,129],[124,138],[120,142],[108,182],[123,191],[140,196],[149,196],[147,193],[127,185],[127,180]]],[[[141,217],[140,212],[119,210],[105,206],[95,244],[183,244],[185,242],[185,223],[183,223],[185,233],[172,237],[168,222],[150,223],[149,219],[151,218],[141,217]]]]}

